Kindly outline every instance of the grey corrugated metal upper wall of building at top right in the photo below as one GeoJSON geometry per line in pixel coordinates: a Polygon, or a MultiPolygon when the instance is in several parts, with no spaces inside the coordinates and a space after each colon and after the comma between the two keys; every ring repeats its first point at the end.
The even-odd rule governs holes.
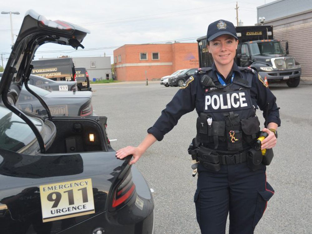
{"type": "Polygon", "coordinates": [[[265,21],[289,16],[312,8],[311,0],[278,0],[257,7],[257,20],[265,17],[265,21]]]}

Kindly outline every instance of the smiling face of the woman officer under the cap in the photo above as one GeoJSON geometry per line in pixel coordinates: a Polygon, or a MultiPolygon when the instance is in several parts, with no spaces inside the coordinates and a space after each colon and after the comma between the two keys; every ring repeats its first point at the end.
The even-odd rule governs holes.
{"type": "Polygon", "coordinates": [[[227,34],[209,41],[207,48],[217,67],[233,65],[237,44],[238,41],[235,41],[234,37],[227,34]]]}

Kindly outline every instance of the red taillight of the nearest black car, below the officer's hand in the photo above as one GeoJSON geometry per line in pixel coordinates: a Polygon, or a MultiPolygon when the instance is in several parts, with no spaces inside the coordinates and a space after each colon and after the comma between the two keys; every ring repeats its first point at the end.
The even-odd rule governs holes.
{"type": "Polygon", "coordinates": [[[135,185],[132,181],[131,172],[124,181],[117,187],[113,197],[112,207],[117,207],[125,202],[128,202],[135,191],[135,185]]]}

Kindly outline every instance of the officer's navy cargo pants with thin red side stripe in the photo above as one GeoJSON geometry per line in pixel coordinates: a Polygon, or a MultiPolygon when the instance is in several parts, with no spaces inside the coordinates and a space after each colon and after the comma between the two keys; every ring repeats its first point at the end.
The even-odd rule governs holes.
{"type": "Polygon", "coordinates": [[[266,166],[251,171],[247,163],[221,165],[218,172],[198,165],[194,196],[197,222],[202,234],[252,234],[274,190],[266,182],[266,166]]]}

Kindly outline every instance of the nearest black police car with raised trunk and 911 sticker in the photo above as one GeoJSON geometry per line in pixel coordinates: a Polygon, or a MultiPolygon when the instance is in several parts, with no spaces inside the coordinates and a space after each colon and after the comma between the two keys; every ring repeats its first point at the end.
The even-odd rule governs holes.
{"type": "Polygon", "coordinates": [[[0,81],[0,233],[153,233],[154,203],[119,160],[106,117],[48,117],[15,106],[39,45],[82,46],[88,30],[30,10],[0,81]]]}

